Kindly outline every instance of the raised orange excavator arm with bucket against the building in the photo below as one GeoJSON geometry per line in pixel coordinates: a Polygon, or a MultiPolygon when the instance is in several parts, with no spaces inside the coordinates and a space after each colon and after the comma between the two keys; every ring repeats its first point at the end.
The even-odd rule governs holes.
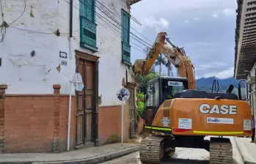
{"type": "Polygon", "coordinates": [[[186,56],[183,48],[176,47],[167,37],[166,32],[158,33],[156,41],[153,44],[147,59],[137,59],[134,63],[134,72],[147,75],[155,63],[158,55],[162,53],[178,69],[178,76],[188,78],[189,89],[195,88],[194,66],[191,60],[186,56]],[[169,44],[167,44],[167,41],[169,44]]]}

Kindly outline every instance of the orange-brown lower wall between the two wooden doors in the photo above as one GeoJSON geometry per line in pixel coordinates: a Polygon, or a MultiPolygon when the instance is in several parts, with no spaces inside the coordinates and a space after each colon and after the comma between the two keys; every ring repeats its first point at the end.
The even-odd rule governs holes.
{"type": "MultiPolygon", "coordinates": [[[[124,108],[124,140],[129,138],[129,113],[128,105],[124,108]]],[[[101,106],[98,113],[98,139],[105,143],[110,135],[117,134],[121,137],[122,106],[101,106]]]]}

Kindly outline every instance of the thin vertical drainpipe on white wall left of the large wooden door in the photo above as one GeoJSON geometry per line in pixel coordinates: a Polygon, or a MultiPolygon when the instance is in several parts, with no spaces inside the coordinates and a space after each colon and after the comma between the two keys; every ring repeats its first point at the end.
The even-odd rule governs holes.
{"type": "MultiPolygon", "coordinates": [[[[73,0],[70,0],[70,40],[69,40],[69,56],[70,60],[72,59],[72,26],[73,26],[73,0]]],[[[76,68],[75,68],[76,69],[76,68]]],[[[72,89],[72,83],[69,81],[70,84],[70,95],[69,95],[69,105],[68,105],[68,124],[67,124],[67,151],[70,149],[70,122],[71,122],[71,89],[72,89]]]]}

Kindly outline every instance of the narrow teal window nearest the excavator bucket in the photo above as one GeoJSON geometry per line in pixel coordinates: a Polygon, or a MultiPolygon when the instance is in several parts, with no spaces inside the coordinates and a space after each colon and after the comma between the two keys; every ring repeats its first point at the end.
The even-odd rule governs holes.
{"type": "Polygon", "coordinates": [[[122,10],[122,63],[131,65],[130,15],[122,10]]]}

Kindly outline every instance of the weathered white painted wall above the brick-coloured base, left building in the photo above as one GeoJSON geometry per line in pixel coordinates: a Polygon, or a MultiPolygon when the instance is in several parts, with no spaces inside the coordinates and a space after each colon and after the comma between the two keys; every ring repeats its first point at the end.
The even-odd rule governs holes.
{"type": "MultiPolygon", "coordinates": [[[[74,51],[78,50],[100,57],[99,95],[102,94],[102,105],[119,105],[116,92],[122,87],[122,78],[125,78],[126,70],[128,71],[128,81],[133,82],[131,69],[121,63],[121,35],[114,29],[112,30],[117,34],[109,30],[111,27],[107,27],[108,25],[96,16],[98,53],[80,48],[80,35],[77,31],[80,27],[77,5],[79,1],[74,0],[73,31],[75,32],[73,32],[70,54],[70,4],[66,1],[26,0],[24,14],[11,26],[31,31],[23,31],[11,26],[7,28],[4,42],[0,42],[0,58],[2,58],[0,83],[8,84],[7,94],[52,94],[52,86],[55,83],[62,85],[61,94],[68,94],[68,81],[72,78],[76,67],[74,51]],[[53,33],[57,29],[61,33],[59,37],[53,33]],[[33,50],[35,56],[30,55],[33,50]],[[67,53],[67,59],[62,59],[67,62],[67,66],[61,66],[60,72],[56,70],[60,63],[59,51],[67,53]]],[[[1,2],[4,20],[7,23],[11,23],[23,12],[23,0],[2,0],[1,2]]],[[[120,18],[121,9],[128,10],[125,0],[100,0],[100,3],[109,7],[120,18]]],[[[97,5],[100,7],[100,4],[97,5]]],[[[106,9],[102,9],[108,12],[106,9]]],[[[97,7],[96,12],[103,15],[104,18],[108,18],[97,7]]],[[[108,14],[110,15],[110,12],[108,14]]],[[[111,17],[121,21],[114,15],[111,17]]],[[[110,18],[108,19],[110,21],[110,18]]],[[[0,23],[2,23],[1,21],[0,19],[0,23]]],[[[117,28],[116,30],[120,31],[117,28]]]]}

